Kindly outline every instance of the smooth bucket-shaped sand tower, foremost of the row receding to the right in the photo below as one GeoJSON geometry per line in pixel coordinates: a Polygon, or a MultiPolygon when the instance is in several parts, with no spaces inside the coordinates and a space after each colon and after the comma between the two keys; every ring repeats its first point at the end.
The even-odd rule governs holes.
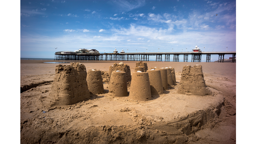
{"type": "Polygon", "coordinates": [[[149,75],[147,72],[133,72],[129,98],[139,101],[151,99],[149,75]]]}

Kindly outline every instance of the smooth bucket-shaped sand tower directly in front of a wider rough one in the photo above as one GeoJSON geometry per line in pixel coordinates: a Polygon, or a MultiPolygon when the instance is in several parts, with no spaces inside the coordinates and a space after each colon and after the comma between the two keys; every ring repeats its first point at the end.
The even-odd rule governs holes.
{"type": "Polygon", "coordinates": [[[126,73],[121,71],[113,71],[109,82],[110,96],[127,96],[126,73]]]}

